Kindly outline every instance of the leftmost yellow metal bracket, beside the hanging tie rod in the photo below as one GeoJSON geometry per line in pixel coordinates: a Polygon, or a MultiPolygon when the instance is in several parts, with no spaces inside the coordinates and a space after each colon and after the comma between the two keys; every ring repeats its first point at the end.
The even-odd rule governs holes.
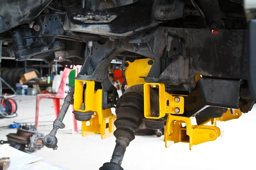
{"type": "Polygon", "coordinates": [[[75,81],[74,110],[84,113],[94,112],[89,121],[82,122],[82,136],[101,133],[101,138],[105,139],[112,136],[113,131],[116,130],[114,126],[116,116],[112,114],[110,108],[102,109],[102,89],[95,91],[94,86],[94,81],[75,81]],[[83,85],[86,85],[84,93],[83,85]],[[81,110],[82,105],[85,106],[84,110],[81,110]]]}

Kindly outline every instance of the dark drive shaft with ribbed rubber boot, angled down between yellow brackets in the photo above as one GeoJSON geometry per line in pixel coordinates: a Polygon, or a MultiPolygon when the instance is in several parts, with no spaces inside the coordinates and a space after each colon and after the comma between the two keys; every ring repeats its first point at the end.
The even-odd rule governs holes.
{"type": "Polygon", "coordinates": [[[139,130],[143,122],[143,94],[128,92],[124,93],[116,104],[116,146],[110,162],[103,164],[99,170],[123,170],[122,159],[126,147],[135,139],[134,132],[139,130]]]}

